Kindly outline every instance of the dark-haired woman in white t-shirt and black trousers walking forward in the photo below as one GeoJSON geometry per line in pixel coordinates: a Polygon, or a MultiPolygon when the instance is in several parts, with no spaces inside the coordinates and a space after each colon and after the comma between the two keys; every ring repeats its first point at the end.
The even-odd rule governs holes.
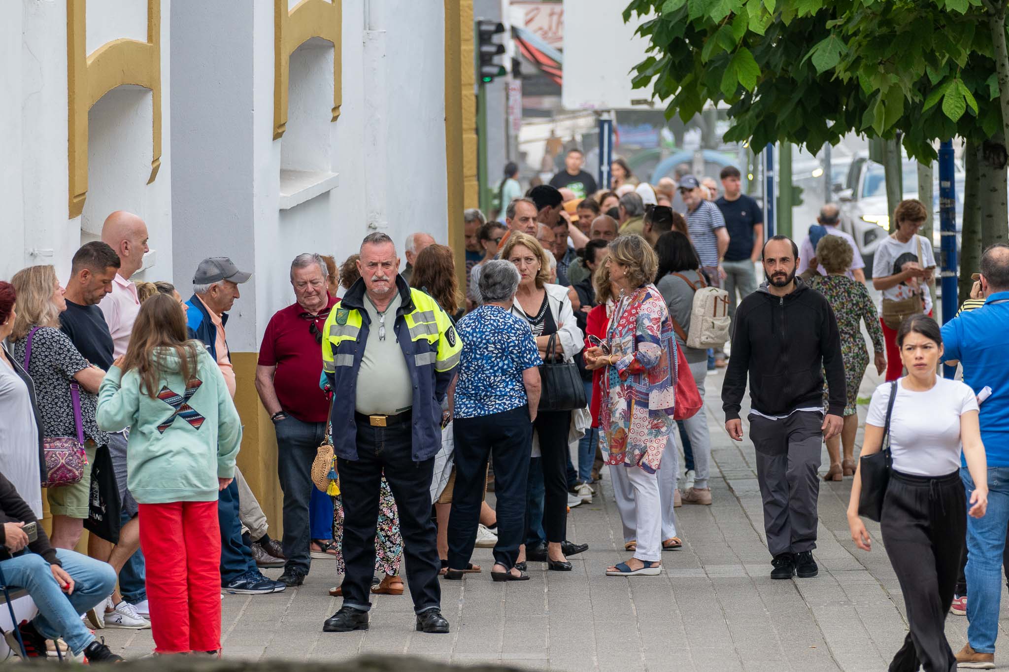
{"type": "MultiPolygon", "coordinates": [[[[945,639],[944,623],[960,572],[961,545],[968,509],[961,479],[961,447],[975,483],[968,515],[981,518],[988,508],[988,469],[978,424],[978,402],[965,383],[935,375],[942,336],[924,315],[904,320],[897,332],[908,375],[873,394],[866,418],[862,455],[878,452],[890,417],[893,465],[883,500],[880,532],[900,589],[910,632],[894,656],[891,670],[950,670],[957,658],[945,639]]],[[[852,483],[848,525],[856,546],[872,542],[859,518],[862,466],[852,483]]]]}

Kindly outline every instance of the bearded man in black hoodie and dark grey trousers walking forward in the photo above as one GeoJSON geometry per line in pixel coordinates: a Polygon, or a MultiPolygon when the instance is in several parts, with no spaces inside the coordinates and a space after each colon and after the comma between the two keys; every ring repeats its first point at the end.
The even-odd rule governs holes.
{"type": "Polygon", "coordinates": [[[771,578],[816,576],[820,445],[840,433],[845,362],[826,299],[795,276],[798,248],[785,236],[764,245],[768,282],[736,310],[733,356],[721,387],[725,430],[743,440],[740,404],[750,374],[750,439],[764,500],[771,578]],[[827,411],[823,414],[823,375],[827,411]]]}

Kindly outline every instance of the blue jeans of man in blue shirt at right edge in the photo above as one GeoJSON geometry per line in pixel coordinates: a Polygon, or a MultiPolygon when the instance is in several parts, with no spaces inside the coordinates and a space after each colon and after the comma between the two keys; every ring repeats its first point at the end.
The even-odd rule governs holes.
{"type": "MultiPolygon", "coordinates": [[[[974,480],[960,470],[970,502],[974,480]]],[[[970,505],[968,505],[970,506],[970,505]]],[[[967,640],[978,653],[995,653],[1002,599],[1002,551],[1009,525],[1009,467],[988,467],[988,512],[967,519],[967,640]]]]}

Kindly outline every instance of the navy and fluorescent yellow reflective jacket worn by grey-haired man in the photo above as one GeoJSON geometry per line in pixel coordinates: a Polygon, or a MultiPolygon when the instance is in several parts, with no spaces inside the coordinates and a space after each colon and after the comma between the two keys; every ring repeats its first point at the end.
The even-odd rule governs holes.
{"type": "MultiPolygon", "coordinates": [[[[414,385],[412,454],[415,462],[423,462],[441,449],[441,403],[459,364],[462,341],[434,299],[410,289],[400,275],[396,285],[401,304],[393,329],[414,385]]],[[[322,341],[323,375],[336,395],[330,417],[333,451],[348,460],[357,459],[354,398],[369,325],[364,282],[358,279],[330,312],[322,341]]]]}

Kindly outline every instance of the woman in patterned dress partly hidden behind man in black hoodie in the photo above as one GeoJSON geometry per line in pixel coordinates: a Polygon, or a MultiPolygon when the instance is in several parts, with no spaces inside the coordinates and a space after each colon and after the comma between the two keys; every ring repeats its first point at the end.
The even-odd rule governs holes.
{"type": "MultiPolygon", "coordinates": [[[[865,321],[869,335],[873,339],[873,350],[876,352],[876,370],[880,374],[886,370],[886,355],[884,354],[883,330],[880,328],[879,315],[876,306],[869,297],[866,286],[848,277],[849,266],[852,265],[852,247],[838,236],[823,236],[816,244],[816,261],[826,270],[826,275],[814,275],[809,281],[809,287],[826,297],[837,318],[837,330],[840,332],[840,352],[845,358],[845,382],[848,401],[845,405],[845,425],[840,437],[826,441],[826,451],[830,456],[830,468],[823,475],[823,480],[840,480],[843,476],[855,474],[855,434],[859,430],[859,414],[856,405],[859,399],[859,386],[862,377],[869,366],[869,352],[866,350],[866,339],[862,336],[860,323],[865,321]],[[844,447],[845,458],[842,460],[840,450],[844,447]]],[[[826,377],[823,378],[826,380],[826,377]]],[[[826,385],[823,385],[823,400],[826,403],[826,385]]]]}

